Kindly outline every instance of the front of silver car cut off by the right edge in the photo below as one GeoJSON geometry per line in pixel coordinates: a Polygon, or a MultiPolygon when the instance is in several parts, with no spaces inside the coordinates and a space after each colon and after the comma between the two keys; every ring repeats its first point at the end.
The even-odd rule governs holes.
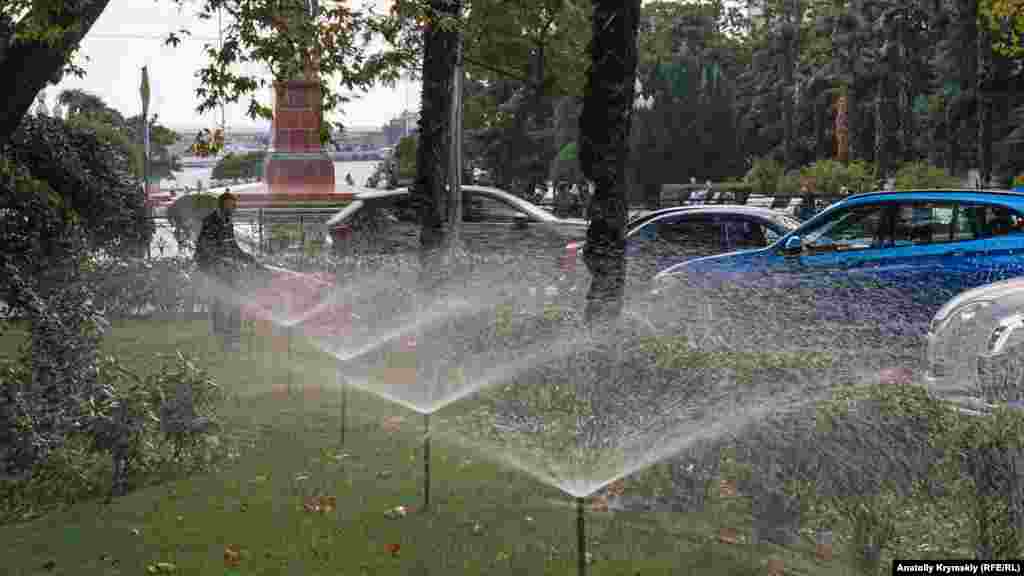
{"type": "Polygon", "coordinates": [[[974,410],[1024,400],[1024,278],[967,290],[935,314],[925,379],[974,410]]]}

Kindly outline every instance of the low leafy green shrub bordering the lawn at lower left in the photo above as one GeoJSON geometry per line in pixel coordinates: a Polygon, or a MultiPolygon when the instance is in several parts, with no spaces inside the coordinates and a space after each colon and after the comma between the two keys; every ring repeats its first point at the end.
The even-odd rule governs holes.
{"type": "MultiPolygon", "coordinates": [[[[225,443],[204,442],[220,424],[223,394],[207,372],[181,354],[164,358],[150,375],[124,368],[113,357],[97,363],[100,394],[83,400],[81,425],[37,460],[28,474],[0,478],[0,523],[28,520],[56,505],[108,494],[166,474],[207,467],[229,453],[225,443]]],[[[0,364],[3,382],[24,383],[22,360],[0,364]]],[[[10,392],[11,386],[5,386],[10,392]]],[[[32,434],[31,418],[18,431],[32,434]]]]}

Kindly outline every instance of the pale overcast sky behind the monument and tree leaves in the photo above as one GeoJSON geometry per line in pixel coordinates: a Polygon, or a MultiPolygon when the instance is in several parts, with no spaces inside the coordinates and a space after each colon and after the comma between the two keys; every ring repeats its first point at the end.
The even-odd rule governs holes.
{"type": "MultiPolygon", "coordinates": [[[[382,0],[376,1],[383,5],[382,0]]],[[[85,77],[69,75],[56,86],[48,86],[46,106],[52,109],[61,90],[79,88],[96,94],[125,116],[140,114],[141,69],[147,66],[150,112],[160,116],[161,124],[175,129],[219,125],[219,111],[203,116],[196,112],[199,105],[196,88],[200,80],[195,74],[207,63],[203,44],[216,44],[217,20],[202,20],[195,16],[195,10],[187,4],[180,9],[171,0],[111,0],[82,41],[77,61],[85,69],[85,77]],[[165,46],[167,34],[181,28],[191,31],[193,36],[183,37],[177,47],[165,46]]],[[[269,73],[262,67],[246,66],[248,72],[269,79],[269,73]]],[[[257,99],[269,106],[270,89],[260,92],[257,99]]],[[[406,81],[395,88],[377,86],[352,95],[355,97],[343,105],[343,114],[335,112],[328,119],[340,121],[348,128],[379,128],[407,108],[419,109],[420,86],[418,82],[406,81]]],[[[268,122],[247,116],[248,102],[245,96],[239,104],[224,107],[228,128],[269,130],[268,122]]]]}

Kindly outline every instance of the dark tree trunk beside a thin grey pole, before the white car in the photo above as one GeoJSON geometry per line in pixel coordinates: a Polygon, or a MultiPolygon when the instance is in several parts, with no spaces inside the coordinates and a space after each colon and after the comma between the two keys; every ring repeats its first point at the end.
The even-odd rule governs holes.
{"type": "MultiPolygon", "coordinates": [[[[458,16],[461,0],[431,0],[431,10],[458,16]]],[[[447,166],[451,141],[453,82],[459,33],[436,22],[423,29],[423,91],[420,136],[416,149],[416,186],[413,194],[420,212],[421,283],[432,288],[440,280],[447,214],[447,166]]]]}

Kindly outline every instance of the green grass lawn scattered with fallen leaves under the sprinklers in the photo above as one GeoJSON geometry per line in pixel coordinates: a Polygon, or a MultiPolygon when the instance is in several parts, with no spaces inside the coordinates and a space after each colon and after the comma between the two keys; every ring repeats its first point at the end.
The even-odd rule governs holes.
{"type": "MultiPolygon", "coordinates": [[[[142,575],[157,563],[175,574],[572,574],[575,510],[570,499],[480,454],[435,442],[431,507],[422,510],[422,417],[349,390],[344,445],[332,359],[301,341],[291,355],[254,335],[225,357],[206,322],[130,321],[113,327],[104,349],[138,371],[174,349],[200,356],[232,397],[225,434],[246,443],[215,472],[142,488],[111,504],[76,504],[0,527],[3,572],[142,575]],[[251,344],[252,347],[248,347],[251,344]],[[291,362],[289,361],[291,358],[291,362]],[[290,369],[291,368],[291,369],[290,369]],[[285,394],[289,381],[293,393],[285,394]],[[323,387],[321,384],[323,383],[323,387]],[[399,416],[396,430],[382,420],[399,416]],[[319,512],[303,504],[335,496],[319,512]],[[385,511],[414,508],[401,519],[385,511]],[[390,544],[400,546],[388,551],[390,544]],[[225,567],[224,549],[242,560],[225,567]]],[[[20,335],[0,335],[10,354],[20,335]]],[[[438,414],[443,418],[444,414],[438,414]]],[[[631,490],[644,490],[642,482],[631,490]]],[[[591,574],[852,574],[848,563],[750,542],[750,506],[712,498],[702,513],[588,511],[591,574]],[[740,542],[720,543],[721,528],[740,542]]]]}

